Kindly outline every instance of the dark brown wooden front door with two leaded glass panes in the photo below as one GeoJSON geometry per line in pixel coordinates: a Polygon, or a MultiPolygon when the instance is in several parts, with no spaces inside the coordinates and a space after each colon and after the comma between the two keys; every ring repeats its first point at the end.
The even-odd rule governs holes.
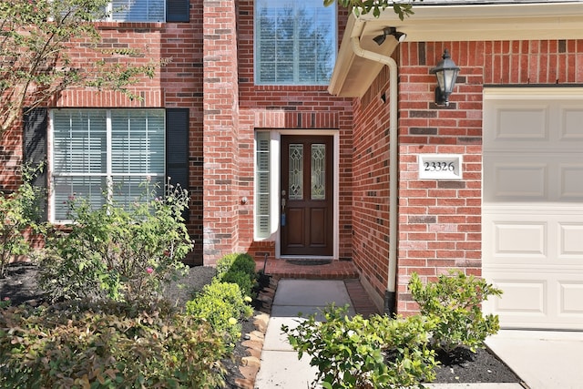
{"type": "Polygon", "coordinates": [[[332,137],[281,137],[281,255],[333,254],[332,137]]]}

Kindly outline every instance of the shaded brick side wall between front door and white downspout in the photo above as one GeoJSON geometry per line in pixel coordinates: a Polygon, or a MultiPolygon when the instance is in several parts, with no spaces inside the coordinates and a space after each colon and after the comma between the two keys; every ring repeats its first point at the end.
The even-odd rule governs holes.
{"type": "Polygon", "coordinates": [[[389,99],[384,69],[356,101],[353,129],[353,260],[383,307],[389,258],[389,99]]]}

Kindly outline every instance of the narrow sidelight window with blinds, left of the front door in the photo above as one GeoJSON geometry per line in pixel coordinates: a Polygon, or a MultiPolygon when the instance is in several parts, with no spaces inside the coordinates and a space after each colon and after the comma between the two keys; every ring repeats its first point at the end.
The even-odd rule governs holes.
{"type": "Polygon", "coordinates": [[[270,224],[270,133],[255,134],[255,237],[267,239],[270,224]]]}

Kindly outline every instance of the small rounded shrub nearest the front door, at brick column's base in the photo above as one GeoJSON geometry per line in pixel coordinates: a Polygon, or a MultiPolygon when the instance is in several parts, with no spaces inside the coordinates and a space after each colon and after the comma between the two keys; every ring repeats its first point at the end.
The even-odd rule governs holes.
{"type": "Polygon", "coordinates": [[[216,278],[221,282],[233,282],[239,285],[243,296],[252,296],[257,284],[255,260],[248,253],[227,254],[217,261],[216,278]]]}

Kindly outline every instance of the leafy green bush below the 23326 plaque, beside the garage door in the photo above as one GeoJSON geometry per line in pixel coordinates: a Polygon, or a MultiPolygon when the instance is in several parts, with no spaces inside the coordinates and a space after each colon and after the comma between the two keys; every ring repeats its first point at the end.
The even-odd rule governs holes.
{"type": "Polygon", "coordinates": [[[446,352],[461,345],[476,351],[476,347],[484,347],[488,335],[500,328],[497,315],[483,315],[482,302],[489,296],[500,296],[502,291],[483,279],[451,271],[449,276],[441,275],[437,282],[424,286],[414,273],[409,289],[421,313],[437,321],[433,343],[446,352]]]}

